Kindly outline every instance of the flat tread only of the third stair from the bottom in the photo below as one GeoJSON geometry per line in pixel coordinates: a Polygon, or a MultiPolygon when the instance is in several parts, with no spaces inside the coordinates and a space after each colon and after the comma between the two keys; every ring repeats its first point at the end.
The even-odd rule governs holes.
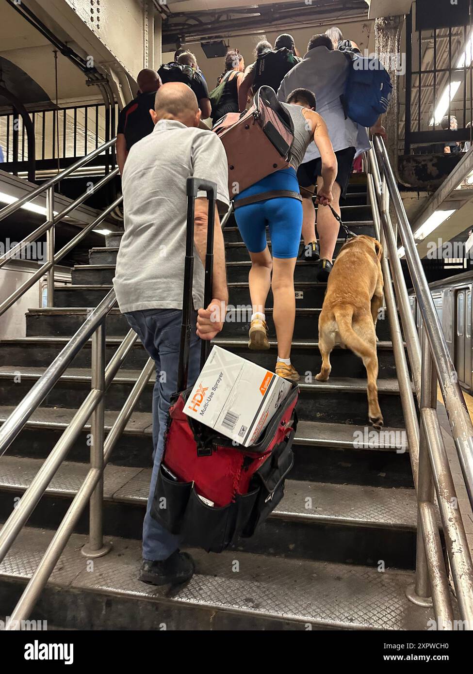
{"type": "MultiPolygon", "coordinates": [[[[11,412],[15,409],[14,406],[0,406],[0,423],[3,423],[11,412]]],[[[69,408],[59,408],[59,407],[38,407],[26,422],[26,427],[28,428],[47,428],[47,429],[65,429],[68,423],[72,420],[72,417],[76,414],[75,409],[69,408]]],[[[117,419],[119,412],[113,410],[105,410],[105,432],[107,433],[115,420],[117,419]]],[[[89,428],[90,424],[86,425],[86,428],[89,428]]],[[[396,450],[396,443],[399,443],[399,440],[405,436],[404,429],[398,428],[389,428],[386,427],[382,431],[385,435],[376,434],[374,439],[370,439],[369,433],[374,433],[372,429],[368,429],[364,426],[355,426],[351,424],[335,424],[335,423],[322,423],[320,421],[299,421],[298,429],[296,431],[296,437],[294,438],[294,444],[296,445],[311,445],[318,447],[333,446],[337,448],[354,448],[354,439],[355,437],[363,437],[365,433],[368,433],[367,439],[368,442],[365,443],[364,440],[360,445],[359,449],[372,449],[372,450],[385,450],[393,451],[396,450]],[[355,433],[358,433],[356,436],[355,433]],[[394,439],[394,444],[391,441],[394,439]],[[380,447],[380,444],[382,445],[380,447]]],[[[128,425],[126,426],[125,433],[134,434],[134,435],[151,435],[152,434],[152,414],[151,412],[134,412],[128,425]]],[[[358,449],[358,447],[357,447],[358,449]]]]}

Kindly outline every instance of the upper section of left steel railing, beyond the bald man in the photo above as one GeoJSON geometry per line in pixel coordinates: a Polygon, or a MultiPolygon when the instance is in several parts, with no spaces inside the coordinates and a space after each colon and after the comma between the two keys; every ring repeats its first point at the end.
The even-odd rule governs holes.
{"type": "Polygon", "coordinates": [[[69,175],[72,175],[74,171],[76,171],[78,168],[81,168],[90,160],[94,159],[96,156],[99,154],[102,154],[102,152],[105,152],[109,147],[111,147],[115,143],[115,138],[113,140],[109,140],[107,143],[103,144],[100,148],[97,148],[93,152],[90,152],[85,157],[80,158],[78,161],[76,161],[74,164],[71,164],[71,166],[68,166],[67,168],[64,169],[64,171],[61,171],[61,173],[58,173],[54,178],[51,178],[51,180],[47,181],[43,185],[39,185],[39,187],[36,187],[32,192],[29,192],[28,194],[25,194],[21,199],[19,199],[16,202],[13,202],[13,204],[9,204],[9,206],[5,206],[5,208],[2,208],[0,210],[0,221],[6,218],[7,216],[12,215],[13,213],[16,213],[22,206],[25,204],[28,204],[32,202],[36,197],[40,194],[43,194],[46,192],[46,220],[43,222],[42,225],[40,225],[38,228],[36,228],[32,233],[28,234],[20,243],[18,243],[15,247],[10,249],[5,253],[5,255],[0,256],[0,268],[9,261],[9,259],[12,259],[17,255],[18,253],[21,253],[21,251],[32,241],[36,241],[41,235],[46,233],[46,247],[47,247],[47,255],[46,255],[46,262],[38,270],[32,274],[19,288],[17,288],[7,299],[5,299],[1,304],[0,304],[0,316],[7,311],[24,293],[26,293],[26,290],[31,288],[36,281],[38,281],[42,276],[47,274],[47,305],[48,307],[53,307],[54,303],[54,268],[55,264],[59,262],[69,251],[74,248],[75,245],[77,245],[84,237],[88,235],[92,229],[96,228],[107,216],[115,209],[116,206],[119,206],[121,203],[122,197],[119,197],[107,210],[105,210],[101,216],[96,218],[93,222],[90,222],[86,227],[74,237],[69,243],[67,243],[61,250],[57,253],[55,253],[55,247],[54,247],[54,241],[55,241],[55,228],[58,226],[61,222],[61,220],[67,216],[70,212],[72,212],[75,208],[80,206],[80,204],[83,204],[88,197],[90,197],[92,194],[96,193],[103,187],[103,185],[106,185],[109,181],[111,181],[115,175],[117,175],[119,169],[115,168],[113,171],[105,175],[96,185],[92,185],[90,189],[87,189],[84,194],[80,195],[74,202],[69,204],[69,206],[66,206],[63,208],[63,210],[57,214],[54,212],[54,187],[59,183],[61,180],[64,178],[67,178],[69,175]]]}

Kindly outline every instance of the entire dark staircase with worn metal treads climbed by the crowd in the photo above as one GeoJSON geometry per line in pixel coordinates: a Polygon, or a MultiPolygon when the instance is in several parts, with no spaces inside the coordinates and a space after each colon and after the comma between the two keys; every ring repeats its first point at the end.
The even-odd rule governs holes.
{"type": "MultiPolygon", "coordinates": [[[[373,235],[366,178],[356,176],[342,219],[373,235]]],[[[248,305],[248,253],[234,220],[224,230],[229,302],[248,305]]],[[[26,338],[0,342],[0,423],[111,288],[119,235],[93,248],[89,264],[72,270],[72,285],[55,290],[55,308],[30,309],[26,338]]],[[[337,249],[343,239],[337,241],[337,249]]],[[[181,588],[137,580],[140,536],[151,470],[150,381],[105,469],[104,531],[113,542],[93,570],[79,549],[88,513],[55,568],[32,617],[76,629],[169,630],[423,630],[432,617],[405,596],[414,581],[416,496],[387,318],[378,321],[379,402],[387,433],[367,426],[366,375],[360,359],[335,349],[329,381],[315,380],[321,357],[318,315],[325,284],[312,263],[296,264],[296,330],[291,359],[302,375],[294,452],[285,498],[249,540],[220,555],[192,551],[197,572],[181,588]],[[355,446],[354,446],[355,442],[355,446]]],[[[274,369],[271,350],[248,350],[248,323],[228,322],[216,344],[274,369]]],[[[118,309],[107,317],[107,358],[128,324],[118,309]]],[[[105,430],[130,393],[146,354],[138,343],[106,397],[105,430]]],[[[90,345],[76,357],[24,431],[0,460],[0,520],[30,484],[42,461],[90,390],[90,345]]],[[[86,427],[0,565],[0,617],[9,615],[86,474],[86,427]]]]}

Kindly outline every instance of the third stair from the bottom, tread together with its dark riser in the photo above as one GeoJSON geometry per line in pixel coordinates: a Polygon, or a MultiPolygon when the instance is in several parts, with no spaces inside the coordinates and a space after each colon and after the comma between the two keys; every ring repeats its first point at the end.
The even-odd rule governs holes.
{"type": "MultiPolygon", "coordinates": [[[[13,409],[11,405],[0,407],[0,424],[13,409]]],[[[11,444],[8,454],[46,458],[75,413],[76,410],[71,408],[38,408],[11,444]]],[[[117,415],[117,410],[105,411],[106,435],[117,415]]],[[[69,460],[89,462],[89,432],[90,425],[87,424],[69,451],[69,460]]],[[[115,445],[111,464],[149,468],[152,464],[151,433],[150,412],[134,412],[115,445]]],[[[294,439],[294,453],[296,462],[291,478],[295,480],[412,487],[406,431],[402,428],[374,431],[366,426],[300,421],[294,439]]]]}

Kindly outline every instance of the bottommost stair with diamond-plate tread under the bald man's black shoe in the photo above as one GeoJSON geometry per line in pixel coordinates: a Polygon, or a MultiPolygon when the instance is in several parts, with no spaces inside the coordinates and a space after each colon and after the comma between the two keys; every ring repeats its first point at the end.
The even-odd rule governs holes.
{"type": "MultiPolygon", "coordinates": [[[[25,528],[0,566],[5,613],[31,577],[53,531],[25,528]]],[[[41,594],[32,618],[80,630],[426,630],[433,610],[412,605],[410,572],[280,559],[235,551],[190,551],[196,574],[173,588],[137,580],[138,541],[111,539],[112,551],[84,566],[74,534],[41,594]]]]}

